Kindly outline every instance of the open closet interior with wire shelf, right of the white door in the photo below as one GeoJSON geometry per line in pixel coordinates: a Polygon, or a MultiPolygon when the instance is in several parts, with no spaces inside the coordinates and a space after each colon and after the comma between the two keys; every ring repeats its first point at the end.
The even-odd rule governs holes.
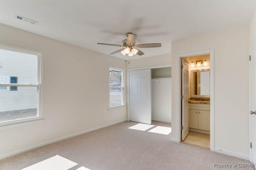
{"type": "Polygon", "coordinates": [[[172,67],[151,69],[152,120],[172,122],[172,67]]]}

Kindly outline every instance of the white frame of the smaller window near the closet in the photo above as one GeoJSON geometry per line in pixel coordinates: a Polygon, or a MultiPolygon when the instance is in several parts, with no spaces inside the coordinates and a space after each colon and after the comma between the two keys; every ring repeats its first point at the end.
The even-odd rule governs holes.
{"type": "Polygon", "coordinates": [[[123,106],[125,106],[124,104],[125,104],[125,102],[124,102],[124,100],[125,100],[125,97],[124,97],[124,94],[125,94],[125,88],[124,88],[124,77],[125,76],[125,72],[124,72],[124,69],[122,69],[122,68],[116,68],[116,67],[109,67],[109,69],[108,69],[108,86],[109,86],[109,92],[108,92],[108,94],[109,94],[109,102],[108,102],[108,106],[109,106],[109,108],[115,108],[115,107],[123,107],[123,106]],[[109,86],[109,71],[110,71],[110,69],[114,69],[114,70],[120,70],[120,71],[122,71],[122,85],[121,86],[109,86]],[[121,105],[115,105],[115,106],[110,106],[110,88],[122,88],[122,104],[121,105]]]}

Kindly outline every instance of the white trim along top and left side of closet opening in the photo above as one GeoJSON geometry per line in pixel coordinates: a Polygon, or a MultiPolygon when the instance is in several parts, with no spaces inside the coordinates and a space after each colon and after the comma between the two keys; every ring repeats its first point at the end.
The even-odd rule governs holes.
{"type": "MultiPolygon", "coordinates": [[[[127,103],[127,121],[130,121],[130,71],[132,70],[144,70],[144,69],[152,69],[152,68],[164,68],[171,67],[172,64],[160,65],[160,66],[148,66],[148,67],[140,67],[140,68],[130,68],[126,72],[126,103],[127,103]]],[[[150,93],[151,95],[151,93],[150,93]]],[[[151,99],[152,100],[152,99],[151,99]]]]}

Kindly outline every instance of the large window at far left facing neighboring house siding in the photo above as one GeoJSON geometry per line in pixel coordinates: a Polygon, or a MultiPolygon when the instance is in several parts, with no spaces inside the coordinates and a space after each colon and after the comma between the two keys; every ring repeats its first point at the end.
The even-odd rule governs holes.
{"type": "Polygon", "coordinates": [[[0,45],[0,125],[41,118],[41,53],[0,45]]]}

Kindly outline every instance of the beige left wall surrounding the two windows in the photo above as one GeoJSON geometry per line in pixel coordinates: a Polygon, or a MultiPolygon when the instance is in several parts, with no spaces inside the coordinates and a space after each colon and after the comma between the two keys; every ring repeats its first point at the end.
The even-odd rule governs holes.
{"type": "Polygon", "coordinates": [[[126,120],[126,107],[108,111],[109,67],[125,69],[124,60],[6,25],[0,25],[0,30],[0,44],[43,53],[45,118],[41,123],[0,128],[0,158],[126,120]]]}

